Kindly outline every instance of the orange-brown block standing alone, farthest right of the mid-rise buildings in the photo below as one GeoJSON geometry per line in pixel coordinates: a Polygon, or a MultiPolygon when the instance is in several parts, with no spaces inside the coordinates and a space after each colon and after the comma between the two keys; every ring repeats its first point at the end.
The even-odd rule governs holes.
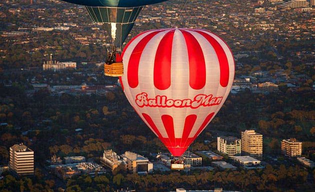
{"type": "Polygon", "coordinates": [[[283,139],[281,141],[281,152],[288,157],[298,157],[302,154],[302,142],[295,138],[283,139]]]}

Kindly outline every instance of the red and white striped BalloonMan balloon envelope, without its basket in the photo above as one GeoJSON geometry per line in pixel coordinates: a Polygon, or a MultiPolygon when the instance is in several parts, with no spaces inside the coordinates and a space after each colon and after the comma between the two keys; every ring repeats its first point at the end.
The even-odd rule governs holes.
{"type": "Polygon", "coordinates": [[[123,91],[174,156],[181,156],[224,103],[234,78],[227,44],[202,29],[142,32],[123,50],[123,91]]]}

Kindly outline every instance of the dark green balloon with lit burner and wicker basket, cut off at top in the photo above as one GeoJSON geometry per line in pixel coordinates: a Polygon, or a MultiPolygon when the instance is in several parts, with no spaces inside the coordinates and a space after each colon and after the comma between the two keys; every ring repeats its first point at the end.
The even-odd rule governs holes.
{"type": "Polygon", "coordinates": [[[142,7],[166,0],[64,0],[74,4],[84,5],[93,22],[103,23],[111,37],[113,47],[108,52],[105,74],[109,76],[122,75],[122,59],[120,50],[128,36],[136,17],[142,7]],[[121,70],[121,71],[120,71],[121,70]]]}

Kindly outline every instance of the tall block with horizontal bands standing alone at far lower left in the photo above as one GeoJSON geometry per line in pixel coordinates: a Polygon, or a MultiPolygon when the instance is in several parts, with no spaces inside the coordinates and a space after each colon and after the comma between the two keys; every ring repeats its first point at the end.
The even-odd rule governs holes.
{"type": "Polygon", "coordinates": [[[23,143],[11,146],[9,168],[18,175],[33,175],[34,151],[23,143]]]}

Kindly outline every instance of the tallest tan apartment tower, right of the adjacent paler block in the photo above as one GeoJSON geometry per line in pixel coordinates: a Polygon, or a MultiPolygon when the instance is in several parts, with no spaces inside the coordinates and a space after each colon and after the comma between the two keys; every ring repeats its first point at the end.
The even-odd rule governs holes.
{"type": "Polygon", "coordinates": [[[254,130],[241,131],[241,152],[257,159],[262,158],[262,134],[254,130]]]}

